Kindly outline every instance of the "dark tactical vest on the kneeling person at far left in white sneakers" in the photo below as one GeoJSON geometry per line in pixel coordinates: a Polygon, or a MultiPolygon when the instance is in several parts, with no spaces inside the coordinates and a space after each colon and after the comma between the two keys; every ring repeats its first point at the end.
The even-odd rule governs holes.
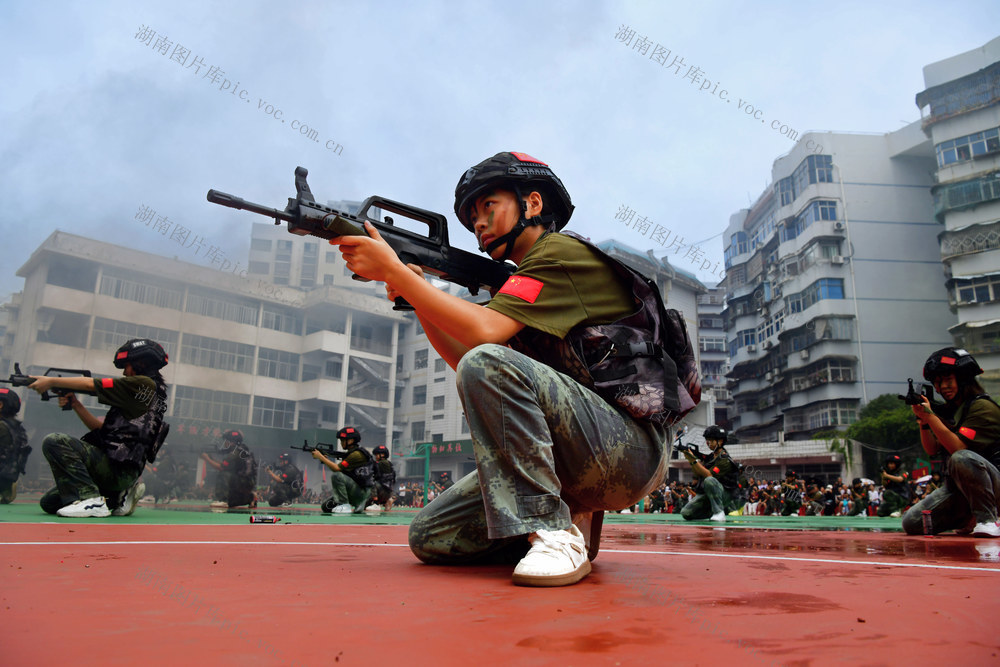
{"type": "Polygon", "coordinates": [[[135,419],[126,419],[120,409],[112,406],[104,417],[104,423],[83,436],[83,441],[100,447],[108,458],[119,463],[131,464],[140,470],[147,460],[147,454],[156,446],[157,436],[167,411],[167,385],[161,376],[150,378],[156,382],[156,397],[149,409],[135,419]]]}

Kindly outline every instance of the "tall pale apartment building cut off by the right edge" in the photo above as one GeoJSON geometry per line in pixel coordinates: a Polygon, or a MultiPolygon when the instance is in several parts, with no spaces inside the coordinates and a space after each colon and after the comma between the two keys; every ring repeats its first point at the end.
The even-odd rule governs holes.
{"type": "Polygon", "coordinates": [[[917,95],[934,145],[934,215],[944,224],[941,261],[958,316],[955,344],[1000,392],[1000,37],[924,67],[917,95]]]}

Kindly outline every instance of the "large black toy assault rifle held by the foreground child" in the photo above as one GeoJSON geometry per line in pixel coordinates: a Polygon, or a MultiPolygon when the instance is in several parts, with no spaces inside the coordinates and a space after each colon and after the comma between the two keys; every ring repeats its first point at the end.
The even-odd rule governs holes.
{"type": "MultiPolygon", "coordinates": [[[[500,289],[514,270],[510,264],[500,264],[488,257],[451,247],[448,244],[448,223],[440,213],[379,196],[364,200],[357,214],[319,204],[306,182],[308,175],[305,167],[295,168],[295,197],[288,198],[288,205],[283,211],[254,204],[218,190],[208,191],[208,201],[274,218],[276,225],[284,221],[288,223],[288,231],[292,234],[317,236],[321,239],[367,236],[364,223],[370,222],[404,264],[416,264],[431,275],[462,285],[473,295],[478,294],[482,287],[500,289]],[[374,217],[374,209],[423,223],[427,225],[427,235],[422,236],[397,227],[389,216],[379,220],[374,217]]],[[[353,277],[355,280],[365,280],[358,275],[353,277]]],[[[412,310],[412,307],[405,300],[397,298],[393,310],[412,310]]]]}

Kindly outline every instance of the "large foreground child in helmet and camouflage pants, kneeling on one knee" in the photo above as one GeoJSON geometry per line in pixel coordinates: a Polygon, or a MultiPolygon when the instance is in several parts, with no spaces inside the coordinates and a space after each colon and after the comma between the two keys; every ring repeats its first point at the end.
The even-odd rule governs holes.
{"type": "Polygon", "coordinates": [[[584,332],[637,302],[603,253],[558,233],[572,212],[548,165],[522,153],[465,172],[458,219],[483,252],[517,265],[485,307],[436,289],[371,226],[371,238],[331,241],[351,271],[414,307],[458,374],[477,469],[412,522],[410,548],[424,562],[500,559],[517,563],[515,584],[576,583],[590,572],[602,511],[635,504],[663,479],[668,427],[604,400],[575,352],[584,332]]]}

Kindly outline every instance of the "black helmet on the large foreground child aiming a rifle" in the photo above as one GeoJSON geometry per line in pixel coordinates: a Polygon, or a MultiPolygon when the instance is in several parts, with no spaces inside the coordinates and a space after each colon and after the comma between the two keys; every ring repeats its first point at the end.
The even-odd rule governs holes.
{"type": "MultiPolygon", "coordinates": [[[[569,192],[549,165],[526,153],[504,152],[483,160],[462,174],[455,186],[455,215],[459,222],[470,232],[473,231],[469,223],[469,206],[478,197],[504,185],[512,187],[517,192],[518,199],[526,190],[522,185],[531,188],[527,192],[539,190],[542,193],[546,205],[552,210],[544,211],[550,217],[540,216],[542,219],[537,221],[539,223],[555,222],[556,230],[559,230],[573,215],[574,207],[569,192]]],[[[529,221],[529,224],[534,223],[529,221]]]]}

